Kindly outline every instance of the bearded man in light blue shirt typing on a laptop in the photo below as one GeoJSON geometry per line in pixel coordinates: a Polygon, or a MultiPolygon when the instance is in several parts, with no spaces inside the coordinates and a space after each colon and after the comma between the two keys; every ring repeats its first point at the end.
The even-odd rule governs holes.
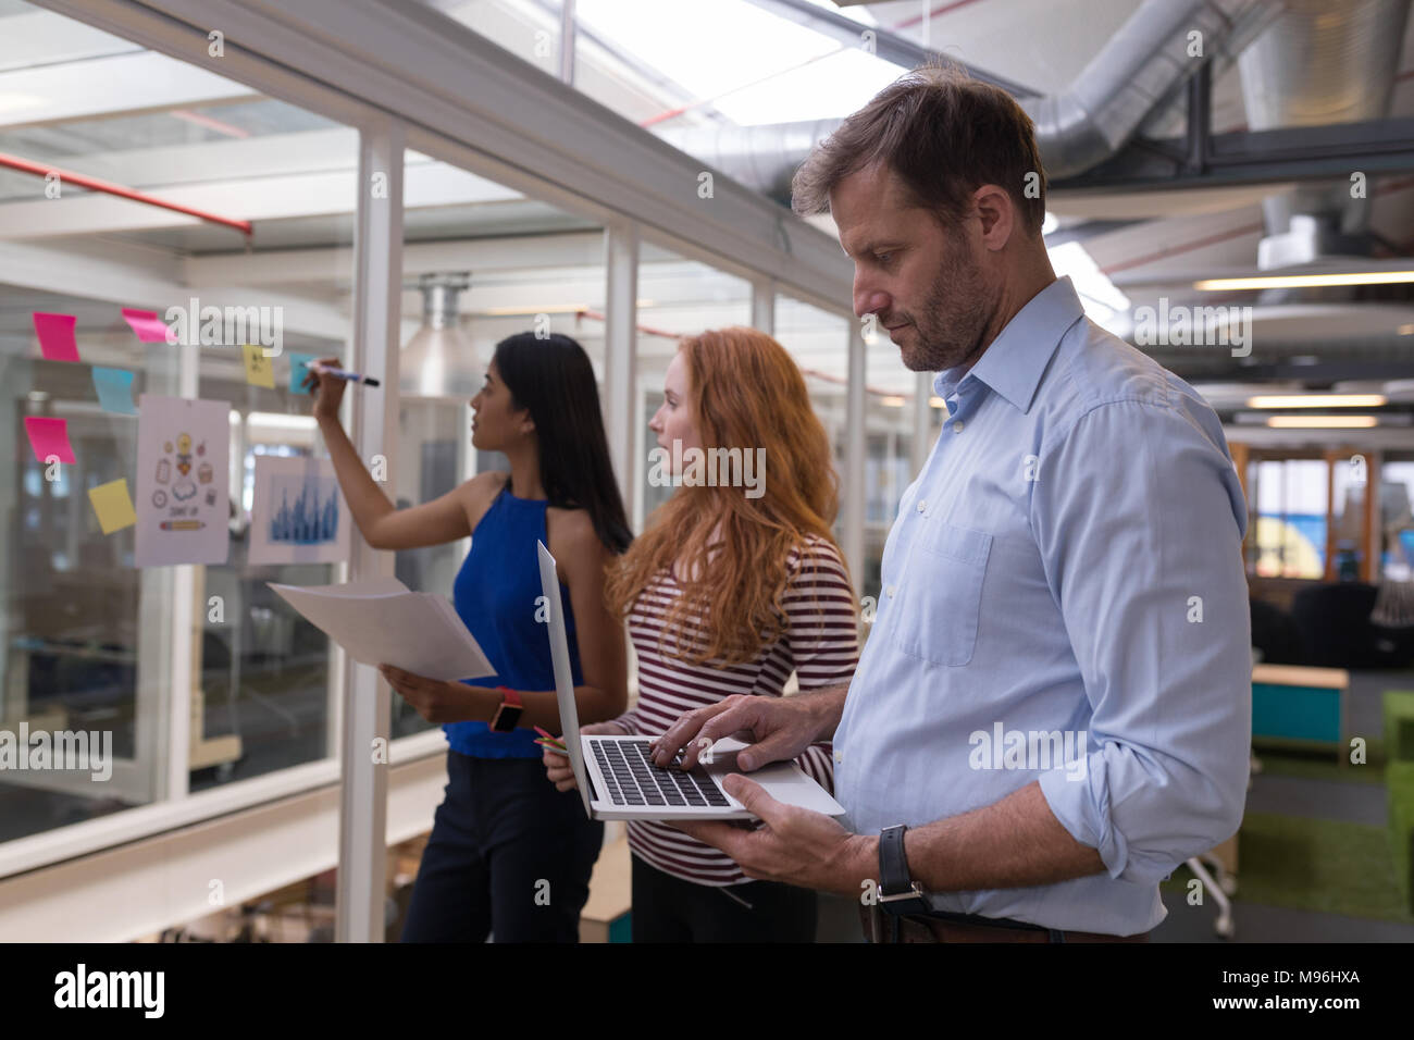
{"type": "Polygon", "coordinates": [[[921,71],[796,174],[797,211],[827,200],[854,259],[855,313],[939,372],[947,419],[847,695],[731,698],[658,744],[691,764],[745,729],[754,768],[833,734],[848,828],[745,777],[728,791],[765,826],[680,826],[752,877],[901,891],[945,941],[1143,937],[1159,882],[1246,799],[1247,511],[1220,423],[1056,280],[1035,170],[1005,93],[921,71]]]}

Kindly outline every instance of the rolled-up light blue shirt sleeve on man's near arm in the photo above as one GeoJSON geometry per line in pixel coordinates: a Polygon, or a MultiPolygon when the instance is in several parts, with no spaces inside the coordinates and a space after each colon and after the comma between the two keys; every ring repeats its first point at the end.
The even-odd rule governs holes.
{"type": "Polygon", "coordinates": [[[1186,399],[1111,400],[1042,443],[1031,521],[1090,722],[1085,768],[1044,773],[1111,877],[1155,883],[1241,822],[1251,657],[1246,505],[1186,399]]]}

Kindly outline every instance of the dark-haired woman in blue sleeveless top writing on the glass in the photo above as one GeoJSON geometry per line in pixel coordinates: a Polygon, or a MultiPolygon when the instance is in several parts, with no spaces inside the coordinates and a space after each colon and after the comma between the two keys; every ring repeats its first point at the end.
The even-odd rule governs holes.
{"type": "Polygon", "coordinates": [[[393,508],[339,426],[344,381],[311,381],[314,415],[369,545],[416,549],[471,535],[454,599],[496,669],[489,679],[443,682],[380,668],[424,719],[443,724],[450,744],[445,798],[403,941],[484,942],[489,932],[498,942],[573,942],[604,825],[585,818],[574,791],[556,791],[534,743],[536,726],[560,732],[536,541],[559,562],[580,717],[612,719],[628,703],[628,651],[604,603],[604,572],[632,535],[590,358],[566,335],[522,333],[496,344],[471,400],[471,443],[503,451],[510,473],[478,474],[409,509],[393,508]]]}

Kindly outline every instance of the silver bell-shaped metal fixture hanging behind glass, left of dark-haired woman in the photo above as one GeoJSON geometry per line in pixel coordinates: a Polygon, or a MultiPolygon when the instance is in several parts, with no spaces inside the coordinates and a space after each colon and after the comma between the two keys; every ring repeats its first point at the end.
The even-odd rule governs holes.
{"type": "Polygon", "coordinates": [[[467,400],[481,388],[477,348],[461,330],[457,307],[471,272],[428,273],[409,287],[423,294],[423,325],[397,362],[403,396],[467,400]]]}

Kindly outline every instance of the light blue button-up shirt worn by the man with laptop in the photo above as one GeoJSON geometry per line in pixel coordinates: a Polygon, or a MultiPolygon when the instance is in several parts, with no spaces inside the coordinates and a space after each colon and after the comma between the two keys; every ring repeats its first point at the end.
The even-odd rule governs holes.
{"type": "Polygon", "coordinates": [[[884,546],[836,795],[872,835],[1039,780],[1104,872],[933,906],[1147,931],[1158,883],[1230,838],[1246,801],[1247,508],[1222,426],[1086,318],[1069,279],[933,386],[949,417],[884,546]]]}

